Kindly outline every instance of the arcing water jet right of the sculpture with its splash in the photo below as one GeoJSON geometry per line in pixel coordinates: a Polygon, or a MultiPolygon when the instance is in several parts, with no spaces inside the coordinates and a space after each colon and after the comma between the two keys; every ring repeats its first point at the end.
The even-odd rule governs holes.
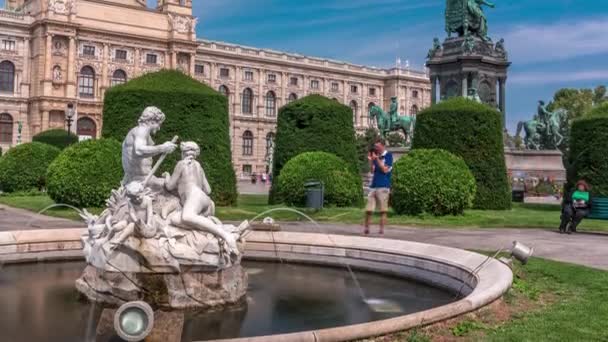
{"type": "MultiPolygon", "coordinates": [[[[255,222],[255,220],[259,219],[260,217],[272,213],[272,212],[276,212],[276,211],[287,211],[287,212],[292,212],[298,215],[301,215],[302,217],[304,217],[305,219],[307,219],[308,221],[310,221],[317,229],[319,232],[322,232],[323,234],[325,234],[325,236],[327,236],[327,238],[329,239],[329,241],[331,241],[331,243],[334,245],[334,247],[337,247],[336,242],[332,239],[331,235],[329,233],[327,233],[327,231],[324,231],[324,229],[319,225],[319,223],[317,223],[317,221],[315,221],[312,217],[306,215],[305,213],[301,212],[300,210],[297,209],[293,209],[293,208],[272,208],[272,209],[268,209],[256,216],[254,216],[251,220],[249,220],[249,222],[255,222]]],[[[283,263],[283,259],[279,256],[278,254],[278,250],[276,248],[276,242],[274,240],[274,232],[270,231],[270,234],[272,236],[272,244],[274,246],[274,251],[275,251],[275,256],[281,261],[281,263],[283,263]]],[[[359,292],[359,296],[361,297],[361,300],[367,304],[371,310],[376,311],[376,312],[401,312],[402,309],[399,306],[399,304],[386,300],[386,299],[382,299],[382,298],[368,298],[365,295],[365,292],[363,291],[363,288],[361,287],[361,284],[359,283],[359,280],[357,279],[357,276],[355,275],[355,272],[353,272],[352,268],[350,267],[350,265],[346,262],[343,261],[342,262],[342,266],[344,266],[347,270],[348,273],[350,274],[353,282],[355,283],[356,288],[358,289],[359,292]]]]}

